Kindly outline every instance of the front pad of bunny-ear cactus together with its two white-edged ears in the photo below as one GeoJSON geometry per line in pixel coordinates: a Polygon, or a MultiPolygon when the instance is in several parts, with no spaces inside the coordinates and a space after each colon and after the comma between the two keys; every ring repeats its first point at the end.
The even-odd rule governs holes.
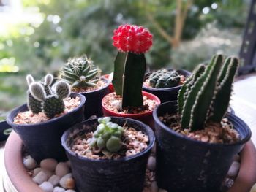
{"type": "Polygon", "coordinates": [[[63,99],[70,94],[69,84],[59,81],[55,85],[55,91],[47,95],[43,85],[40,82],[32,82],[29,86],[31,95],[42,102],[42,110],[48,118],[54,118],[55,115],[64,112],[65,105],[63,99]]]}

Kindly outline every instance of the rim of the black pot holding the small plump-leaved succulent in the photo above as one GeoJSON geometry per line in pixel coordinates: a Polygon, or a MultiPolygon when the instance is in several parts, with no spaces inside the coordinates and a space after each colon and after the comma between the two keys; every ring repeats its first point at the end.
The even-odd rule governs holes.
{"type": "MultiPolygon", "coordinates": [[[[64,132],[64,134],[61,137],[61,145],[66,150],[66,153],[69,153],[73,157],[78,158],[79,160],[82,160],[82,161],[91,161],[91,162],[123,162],[123,161],[129,161],[129,160],[131,160],[133,158],[137,158],[138,156],[144,155],[145,153],[148,153],[148,151],[152,149],[152,147],[154,146],[156,138],[154,136],[154,131],[148,125],[146,125],[145,123],[140,122],[139,120],[134,120],[134,119],[131,119],[131,118],[122,118],[122,117],[113,117],[113,116],[110,116],[110,118],[111,119],[112,118],[116,118],[116,119],[121,118],[122,120],[132,120],[132,121],[135,121],[135,123],[137,123],[139,126],[145,127],[146,130],[148,131],[147,135],[148,135],[148,137],[150,139],[149,143],[148,143],[148,147],[145,150],[141,151],[140,153],[136,153],[135,155],[131,155],[129,157],[124,157],[124,158],[118,158],[118,159],[92,159],[92,158],[86,158],[86,157],[82,157],[80,155],[77,155],[75,152],[70,150],[70,148],[67,146],[65,137],[66,137],[67,134],[70,134],[71,131],[75,130],[75,126],[78,126],[79,124],[85,124],[88,121],[92,121],[92,120],[97,120],[98,119],[98,118],[91,118],[91,119],[88,119],[88,120],[84,120],[84,121],[82,121],[80,123],[77,123],[75,126],[72,126],[71,128],[67,129],[67,131],[64,132]]],[[[78,133],[76,133],[76,134],[78,134],[78,133]]]]}

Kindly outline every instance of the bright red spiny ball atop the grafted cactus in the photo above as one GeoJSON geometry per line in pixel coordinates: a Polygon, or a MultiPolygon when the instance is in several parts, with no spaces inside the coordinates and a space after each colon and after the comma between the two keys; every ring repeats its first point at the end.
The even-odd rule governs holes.
{"type": "Polygon", "coordinates": [[[119,26],[113,34],[113,45],[122,52],[145,53],[152,45],[152,35],[142,26],[119,26]]]}

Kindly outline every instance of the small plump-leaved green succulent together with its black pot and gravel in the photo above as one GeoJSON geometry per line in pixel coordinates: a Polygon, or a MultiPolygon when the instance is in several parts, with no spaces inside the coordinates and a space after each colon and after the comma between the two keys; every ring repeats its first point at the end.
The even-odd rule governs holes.
{"type": "Polygon", "coordinates": [[[78,191],[143,191],[154,132],[140,121],[89,119],[65,131],[61,142],[78,191]]]}

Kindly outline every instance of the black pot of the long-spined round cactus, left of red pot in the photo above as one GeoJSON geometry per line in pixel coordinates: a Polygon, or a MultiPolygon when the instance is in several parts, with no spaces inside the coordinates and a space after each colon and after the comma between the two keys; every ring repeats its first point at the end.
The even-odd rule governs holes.
{"type": "Polygon", "coordinates": [[[108,86],[110,85],[110,81],[105,77],[101,77],[101,80],[106,82],[106,85],[103,88],[97,89],[95,91],[80,93],[86,97],[86,103],[84,106],[85,119],[90,118],[91,115],[96,115],[97,117],[101,117],[103,115],[102,99],[109,92],[108,86]]]}

